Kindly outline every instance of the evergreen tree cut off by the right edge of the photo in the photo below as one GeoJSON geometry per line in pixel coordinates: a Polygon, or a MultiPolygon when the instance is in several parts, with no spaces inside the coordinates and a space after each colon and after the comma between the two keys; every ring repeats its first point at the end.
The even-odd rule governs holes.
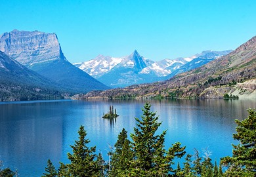
{"type": "Polygon", "coordinates": [[[256,176],[256,111],[248,109],[248,117],[243,121],[236,120],[234,140],[239,144],[232,146],[232,157],[224,157],[221,163],[228,167],[228,176],[256,176]]]}

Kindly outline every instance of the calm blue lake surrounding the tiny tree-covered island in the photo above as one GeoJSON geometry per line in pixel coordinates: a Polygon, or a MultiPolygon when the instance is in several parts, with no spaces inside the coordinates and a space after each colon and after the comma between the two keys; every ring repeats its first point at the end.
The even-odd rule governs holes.
{"type": "Polygon", "coordinates": [[[19,176],[41,176],[47,159],[68,163],[70,145],[77,140],[80,125],[85,126],[89,146],[108,159],[107,152],[114,146],[119,132],[129,133],[136,126],[134,117],[142,115],[148,101],[157,111],[160,130],[167,130],[165,147],[175,142],[211,151],[213,162],[232,155],[231,144],[236,143],[234,119],[247,117],[248,108],[255,108],[255,100],[52,100],[0,103],[0,160],[4,167],[18,169],[19,176]],[[110,105],[117,110],[116,121],[102,119],[110,105]]]}

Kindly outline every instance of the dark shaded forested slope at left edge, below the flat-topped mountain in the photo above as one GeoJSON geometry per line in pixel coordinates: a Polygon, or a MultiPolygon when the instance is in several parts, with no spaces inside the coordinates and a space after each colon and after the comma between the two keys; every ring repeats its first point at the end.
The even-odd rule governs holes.
{"type": "Polygon", "coordinates": [[[0,51],[0,101],[63,98],[62,88],[0,51]]]}

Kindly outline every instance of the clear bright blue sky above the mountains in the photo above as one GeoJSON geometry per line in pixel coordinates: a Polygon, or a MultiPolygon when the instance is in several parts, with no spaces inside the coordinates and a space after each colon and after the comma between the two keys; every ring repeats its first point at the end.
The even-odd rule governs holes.
{"type": "Polygon", "coordinates": [[[151,60],[236,49],[256,35],[255,0],[0,0],[0,33],[56,33],[70,62],[151,60]]]}

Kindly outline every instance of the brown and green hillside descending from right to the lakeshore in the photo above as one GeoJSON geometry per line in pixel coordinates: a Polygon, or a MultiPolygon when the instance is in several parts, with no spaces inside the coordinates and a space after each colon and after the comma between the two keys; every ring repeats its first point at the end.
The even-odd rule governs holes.
{"type": "Polygon", "coordinates": [[[90,98],[223,98],[224,94],[256,98],[256,36],[211,62],[166,81],[89,92],[90,98]]]}

